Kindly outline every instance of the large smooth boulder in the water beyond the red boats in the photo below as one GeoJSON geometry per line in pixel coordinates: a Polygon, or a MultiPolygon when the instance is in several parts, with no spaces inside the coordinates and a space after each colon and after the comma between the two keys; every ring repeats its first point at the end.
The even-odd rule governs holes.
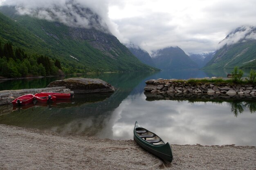
{"type": "Polygon", "coordinates": [[[114,92],[115,87],[101,79],[68,78],[51,82],[47,87],[65,86],[75,94],[85,93],[109,93],[114,92]]]}

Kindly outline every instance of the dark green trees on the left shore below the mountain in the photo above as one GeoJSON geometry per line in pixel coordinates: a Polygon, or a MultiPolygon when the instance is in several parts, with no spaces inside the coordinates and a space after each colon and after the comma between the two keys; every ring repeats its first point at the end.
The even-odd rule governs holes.
{"type": "Polygon", "coordinates": [[[11,42],[0,42],[0,76],[14,78],[58,75],[61,64],[43,55],[27,55],[20,48],[13,49],[11,42]]]}

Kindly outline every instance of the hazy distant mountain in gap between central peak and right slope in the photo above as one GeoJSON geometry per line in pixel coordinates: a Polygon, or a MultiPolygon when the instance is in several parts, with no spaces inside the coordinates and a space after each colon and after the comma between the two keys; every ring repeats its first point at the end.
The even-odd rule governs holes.
{"type": "Polygon", "coordinates": [[[190,53],[189,57],[193,62],[198,64],[199,68],[202,68],[212,59],[214,54],[215,54],[214,52],[201,53],[201,54],[190,53]]]}

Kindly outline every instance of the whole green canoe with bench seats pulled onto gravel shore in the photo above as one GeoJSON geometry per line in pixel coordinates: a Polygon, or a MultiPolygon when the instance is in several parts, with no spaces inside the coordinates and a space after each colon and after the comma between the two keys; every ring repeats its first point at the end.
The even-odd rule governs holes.
{"type": "Polygon", "coordinates": [[[155,133],[146,130],[135,122],[133,130],[134,140],[144,149],[153,153],[157,157],[171,162],[173,161],[173,153],[170,144],[158,137],[155,133]]]}

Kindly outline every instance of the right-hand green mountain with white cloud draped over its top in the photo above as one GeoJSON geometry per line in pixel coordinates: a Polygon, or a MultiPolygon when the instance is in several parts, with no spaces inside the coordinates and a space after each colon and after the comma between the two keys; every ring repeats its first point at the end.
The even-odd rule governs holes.
{"type": "Polygon", "coordinates": [[[204,69],[256,68],[256,27],[242,26],[218,44],[218,50],[204,69]]]}

